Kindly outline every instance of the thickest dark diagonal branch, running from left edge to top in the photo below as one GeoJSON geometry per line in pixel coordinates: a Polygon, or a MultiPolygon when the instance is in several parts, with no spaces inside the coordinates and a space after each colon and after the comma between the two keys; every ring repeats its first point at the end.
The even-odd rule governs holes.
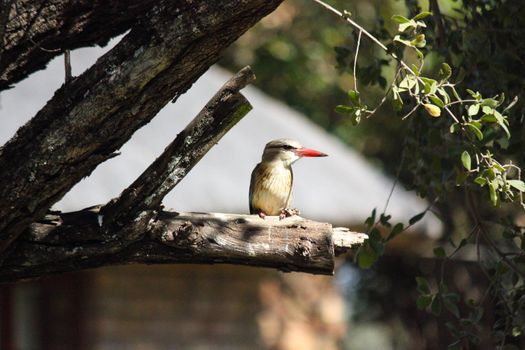
{"type": "Polygon", "coordinates": [[[157,1],[0,149],[0,252],[280,2],[157,1]]]}

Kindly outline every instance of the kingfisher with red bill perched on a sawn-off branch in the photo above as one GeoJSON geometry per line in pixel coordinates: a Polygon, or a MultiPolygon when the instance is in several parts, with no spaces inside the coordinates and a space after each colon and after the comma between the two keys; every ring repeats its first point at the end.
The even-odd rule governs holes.
{"type": "Polygon", "coordinates": [[[295,140],[278,139],[264,147],[262,160],[252,171],[250,181],[250,214],[262,219],[279,215],[281,219],[298,214],[290,209],[292,199],[292,164],[302,157],[326,157],[311,148],[304,148],[295,140]]]}

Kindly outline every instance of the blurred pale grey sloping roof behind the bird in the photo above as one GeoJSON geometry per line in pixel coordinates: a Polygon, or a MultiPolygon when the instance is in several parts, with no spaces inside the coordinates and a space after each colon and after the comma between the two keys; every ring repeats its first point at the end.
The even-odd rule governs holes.
{"type": "MultiPolygon", "coordinates": [[[[88,48],[72,53],[74,74],[89,67],[101,52],[88,48]],[[79,69],[80,68],[80,69],[79,69]]],[[[116,197],[163,151],[231,73],[215,66],[204,74],[175,104],[168,104],[151,123],[137,131],[121,155],[101,164],[59,203],[60,210],[77,210],[116,197]]],[[[7,141],[29,120],[63,83],[62,58],[2,93],[0,142],[7,141]]],[[[180,211],[248,212],[250,173],[260,161],[264,145],[272,139],[293,138],[303,146],[327,153],[294,164],[292,204],[304,217],[334,224],[362,223],[372,209],[381,212],[393,180],[304,115],[249,86],[242,93],[254,109],[232,128],[165,198],[165,206],[180,211]]],[[[396,186],[388,213],[407,222],[427,203],[396,186]]],[[[433,215],[419,225],[430,236],[441,231],[433,215]]]]}

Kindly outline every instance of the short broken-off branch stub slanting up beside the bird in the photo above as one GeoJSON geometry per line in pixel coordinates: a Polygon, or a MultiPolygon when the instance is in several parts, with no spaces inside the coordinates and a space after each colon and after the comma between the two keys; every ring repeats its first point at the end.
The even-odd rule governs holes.
{"type": "Polygon", "coordinates": [[[157,209],[168,192],[252,109],[239,91],[254,79],[250,67],[245,67],[228,80],[162,155],[104,207],[104,224],[125,222],[139,211],[157,209]]]}

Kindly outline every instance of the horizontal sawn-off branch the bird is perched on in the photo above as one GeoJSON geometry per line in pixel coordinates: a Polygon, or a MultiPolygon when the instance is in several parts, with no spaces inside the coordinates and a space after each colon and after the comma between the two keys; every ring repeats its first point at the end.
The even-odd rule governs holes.
{"type": "Polygon", "coordinates": [[[0,282],[129,263],[229,263],[332,274],[334,250],[366,235],[298,216],[279,220],[219,213],[144,211],[125,229],[132,242],[105,232],[97,208],[52,214],[29,232],[0,267],[0,282]],[[130,233],[132,233],[130,235],[130,233]]]}

